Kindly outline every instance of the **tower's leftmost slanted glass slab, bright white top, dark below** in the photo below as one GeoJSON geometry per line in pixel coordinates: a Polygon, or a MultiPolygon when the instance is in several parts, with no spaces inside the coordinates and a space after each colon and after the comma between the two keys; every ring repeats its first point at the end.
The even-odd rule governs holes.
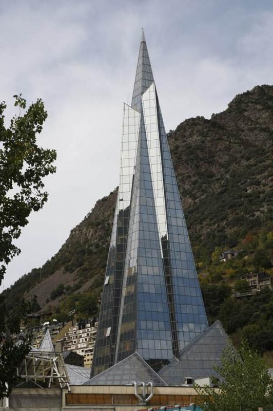
{"type": "Polygon", "coordinates": [[[92,375],[114,364],[140,113],[124,104],[120,185],[108,254],[92,375]],[[111,334],[109,329],[111,329],[111,334]]]}

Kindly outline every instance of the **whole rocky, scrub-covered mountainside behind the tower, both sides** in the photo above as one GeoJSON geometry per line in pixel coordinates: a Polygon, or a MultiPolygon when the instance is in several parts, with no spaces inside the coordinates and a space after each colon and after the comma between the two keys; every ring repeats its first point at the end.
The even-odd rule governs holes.
{"type": "MultiPolygon", "coordinates": [[[[209,319],[222,319],[235,339],[251,334],[253,345],[273,350],[272,292],[231,297],[242,274],[273,274],[273,86],[236,96],[209,120],[185,120],[168,138],[209,319]],[[220,263],[230,248],[241,251],[220,263]]],[[[116,190],[97,201],[50,261],[5,290],[8,307],[24,296],[65,318],[81,298],[100,295],[115,198],[116,190]]]]}

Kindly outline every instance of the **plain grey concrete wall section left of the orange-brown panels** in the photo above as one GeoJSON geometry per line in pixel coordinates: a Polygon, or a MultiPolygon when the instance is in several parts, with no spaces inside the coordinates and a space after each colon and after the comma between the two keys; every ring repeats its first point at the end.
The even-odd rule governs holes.
{"type": "Polygon", "coordinates": [[[61,389],[15,388],[9,397],[9,407],[14,411],[61,411],[61,389]]]}

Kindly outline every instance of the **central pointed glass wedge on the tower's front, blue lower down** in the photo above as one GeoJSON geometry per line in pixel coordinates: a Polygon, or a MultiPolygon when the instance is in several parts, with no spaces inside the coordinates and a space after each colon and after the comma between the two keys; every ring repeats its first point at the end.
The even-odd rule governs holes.
{"type": "Polygon", "coordinates": [[[134,349],[137,349],[149,363],[153,361],[162,366],[172,358],[173,353],[151,174],[145,126],[141,120],[122,287],[119,343],[117,343],[115,361],[125,358],[132,347],[135,347],[134,349]],[[129,272],[131,269],[133,273],[129,272]],[[135,285],[133,289],[132,284],[135,285]],[[146,321],[137,322],[141,315],[146,321]],[[134,328],[128,328],[132,319],[135,321],[134,328]],[[161,323],[164,324],[163,327],[160,326],[161,323]],[[125,327],[126,324],[128,327],[125,327]],[[164,341],[164,348],[155,349],[154,339],[164,341]],[[136,340],[135,346],[134,340],[136,340]]]}

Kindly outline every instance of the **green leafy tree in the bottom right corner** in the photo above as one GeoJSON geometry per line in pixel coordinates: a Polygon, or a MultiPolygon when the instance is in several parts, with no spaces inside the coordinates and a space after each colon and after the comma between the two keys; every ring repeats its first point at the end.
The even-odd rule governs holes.
{"type": "Polygon", "coordinates": [[[273,407],[273,380],[256,351],[245,343],[239,352],[227,347],[221,357],[221,366],[214,366],[219,375],[219,389],[196,385],[198,405],[204,411],[271,411],[273,407]]]}

